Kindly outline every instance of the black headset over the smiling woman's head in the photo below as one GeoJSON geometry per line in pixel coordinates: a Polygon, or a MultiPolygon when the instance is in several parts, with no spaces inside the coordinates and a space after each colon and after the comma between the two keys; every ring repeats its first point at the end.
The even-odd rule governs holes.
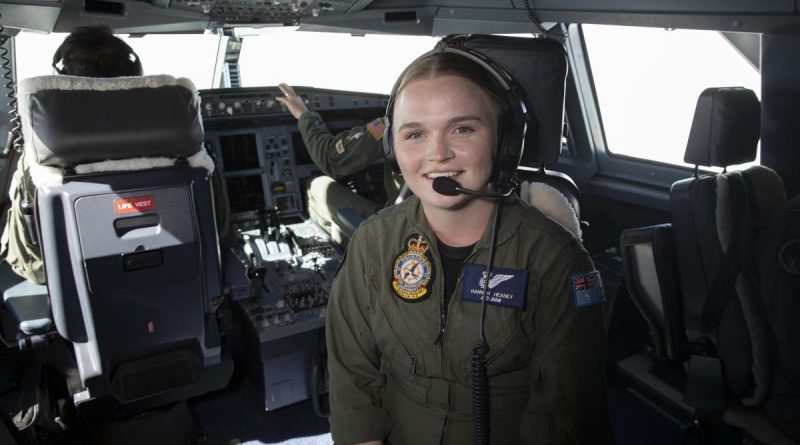
{"type": "Polygon", "coordinates": [[[392,93],[386,105],[385,121],[387,125],[383,133],[383,153],[389,166],[398,171],[391,127],[397,90],[400,88],[400,84],[406,74],[418,63],[436,54],[457,54],[474,62],[490,74],[491,79],[494,80],[494,91],[492,93],[507,105],[506,110],[498,118],[497,150],[495,152],[494,165],[492,166],[492,175],[489,179],[490,182],[494,183],[496,190],[505,190],[509,187],[514,172],[522,159],[523,144],[525,143],[528,107],[520,94],[522,90],[505,69],[483,54],[468,48],[449,47],[446,46],[446,43],[443,42],[443,44],[437,45],[433,50],[411,62],[400,74],[394,87],[392,87],[392,93]]]}

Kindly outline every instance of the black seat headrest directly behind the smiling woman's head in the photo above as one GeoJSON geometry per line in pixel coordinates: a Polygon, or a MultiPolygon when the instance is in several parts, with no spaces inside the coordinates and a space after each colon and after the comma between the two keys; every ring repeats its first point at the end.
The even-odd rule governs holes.
{"type": "Polygon", "coordinates": [[[558,161],[564,125],[567,53],[549,38],[453,35],[448,46],[479,52],[503,67],[523,90],[528,129],[521,165],[535,167],[558,161]]]}

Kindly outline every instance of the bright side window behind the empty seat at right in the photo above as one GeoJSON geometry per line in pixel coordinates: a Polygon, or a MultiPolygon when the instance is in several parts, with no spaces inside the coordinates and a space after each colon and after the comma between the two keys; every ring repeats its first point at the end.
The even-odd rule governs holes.
{"type": "Polygon", "coordinates": [[[686,165],[695,105],[709,87],[761,97],[761,75],[714,31],[584,25],[608,151],[686,165]]]}

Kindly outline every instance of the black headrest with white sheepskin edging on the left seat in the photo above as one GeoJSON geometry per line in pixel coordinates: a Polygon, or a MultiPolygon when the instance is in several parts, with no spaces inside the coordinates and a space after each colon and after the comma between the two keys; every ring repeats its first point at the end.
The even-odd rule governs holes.
{"type": "Polygon", "coordinates": [[[202,148],[200,97],[189,79],[33,77],[20,82],[19,105],[26,156],[42,166],[188,158],[202,148]]]}

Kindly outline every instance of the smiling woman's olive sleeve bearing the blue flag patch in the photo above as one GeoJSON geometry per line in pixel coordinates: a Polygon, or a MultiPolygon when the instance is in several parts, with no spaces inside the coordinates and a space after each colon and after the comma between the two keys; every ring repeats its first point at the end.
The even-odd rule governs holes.
{"type": "Polygon", "coordinates": [[[582,247],[568,252],[540,277],[534,293],[535,350],[520,436],[528,444],[613,443],[603,307],[577,307],[572,292],[571,277],[594,266],[582,247]]]}

